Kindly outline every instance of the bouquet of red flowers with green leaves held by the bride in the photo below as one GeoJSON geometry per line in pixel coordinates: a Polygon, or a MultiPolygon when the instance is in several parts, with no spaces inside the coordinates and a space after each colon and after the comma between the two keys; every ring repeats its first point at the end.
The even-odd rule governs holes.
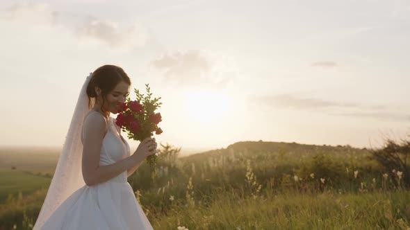
{"type": "MultiPolygon", "coordinates": [[[[117,121],[115,122],[122,131],[127,133],[129,139],[143,141],[149,136],[159,135],[163,132],[158,123],[162,121],[161,113],[155,112],[162,103],[158,103],[160,98],[151,99],[149,84],[145,84],[147,96],[140,94],[138,89],[134,89],[136,100],[126,98],[125,103],[118,103],[117,121]]],[[[152,169],[156,166],[157,154],[151,154],[147,157],[147,162],[152,169]]]]}

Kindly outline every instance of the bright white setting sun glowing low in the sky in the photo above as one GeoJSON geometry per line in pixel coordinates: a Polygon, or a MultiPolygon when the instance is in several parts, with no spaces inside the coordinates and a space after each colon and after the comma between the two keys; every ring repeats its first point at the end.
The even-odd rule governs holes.
{"type": "Polygon", "coordinates": [[[186,93],[183,108],[191,121],[215,123],[229,116],[231,102],[231,98],[223,91],[197,90],[186,93]]]}

